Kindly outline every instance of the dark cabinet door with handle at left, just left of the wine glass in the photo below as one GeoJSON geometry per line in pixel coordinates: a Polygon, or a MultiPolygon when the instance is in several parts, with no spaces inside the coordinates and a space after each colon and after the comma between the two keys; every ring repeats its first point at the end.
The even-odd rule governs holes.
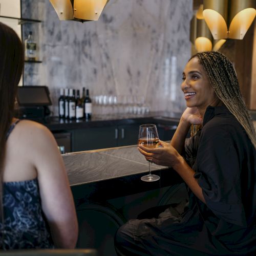
{"type": "Polygon", "coordinates": [[[138,143],[140,124],[118,126],[118,146],[135,145],[138,143]]]}

